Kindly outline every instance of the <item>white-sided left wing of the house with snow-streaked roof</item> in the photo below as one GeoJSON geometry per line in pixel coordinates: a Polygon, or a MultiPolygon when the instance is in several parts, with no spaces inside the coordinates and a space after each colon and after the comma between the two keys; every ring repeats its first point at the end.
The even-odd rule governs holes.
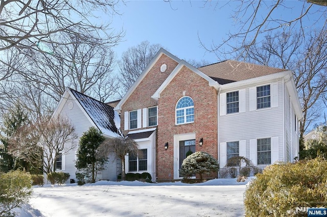
{"type": "MultiPolygon", "coordinates": [[[[115,103],[116,104],[116,103],[115,103]]],[[[103,132],[105,138],[117,137],[120,125],[120,117],[113,107],[102,103],[94,98],[86,96],[73,89],[66,89],[61,100],[59,101],[52,117],[67,117],[75,127],[75,133],[79,138],[86,132],[89,127],[96,127],[103,132]]],[[[78,141],[76,141],[78,143],[78,141]]],[[[65,144],[72,146],[72,144],[65,144]]],[[[61,154],[57,159],[56,171],[69,173],[69,179],[76,181],[75,167],[76,153],[78,146],[67,153],[61,154]]],[[[121,173],[121,161],[114,155],[109,156],[105,165],[105,170],[98,173],[98,179],[117,180],[118,174],[121,173]]],[[[46,180],[46,178],[45,178],[46,180]]]]}

